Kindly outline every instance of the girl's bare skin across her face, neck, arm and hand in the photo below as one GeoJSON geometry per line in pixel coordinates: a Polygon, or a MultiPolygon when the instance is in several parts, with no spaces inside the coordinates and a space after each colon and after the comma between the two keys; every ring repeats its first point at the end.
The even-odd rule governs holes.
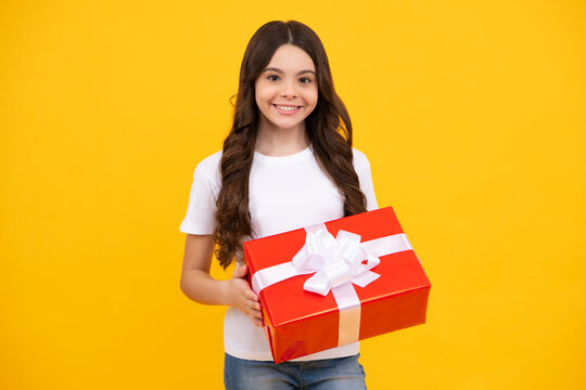
{"type": "MultiPolygon", "coordinates": [[[[256,151],[268,156],[286,156],[307,147],[305,118],[318,100],[316,69],[302,49],[283,44],[272,55],[255,82],[255,100],[260,112],[256,151]],[[300,107],[280,112],[276,105],[300,107]]],[[[232,277],[217,281],[209,275],[214,253],[212,235],[188,234],[180,287],[183,294],[203,304],[228,304],[241,310],[263,326],[258,296],[246,280],[247,266],[237,265],[232,277]]]]}

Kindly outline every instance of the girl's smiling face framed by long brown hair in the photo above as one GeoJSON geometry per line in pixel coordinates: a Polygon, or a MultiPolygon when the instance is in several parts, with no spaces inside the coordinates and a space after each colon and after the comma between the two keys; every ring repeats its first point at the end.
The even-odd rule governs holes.
{"type": "Polygon", "coordinates": [[[255,82],[260,127],[297,129],[316,108],[318,86],[309,54],[293,44],[283,44],[255,82]]]}

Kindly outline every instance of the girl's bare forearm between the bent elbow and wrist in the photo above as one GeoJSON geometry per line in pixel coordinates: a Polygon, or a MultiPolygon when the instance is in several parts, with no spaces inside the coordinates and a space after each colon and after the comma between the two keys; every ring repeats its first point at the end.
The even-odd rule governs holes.
{"type": "Polygon", "coordinates": [[[187,270],[181,275],[181,291],[203,304],[231,304],[229,281],[217,281],[202,270],[187,270]]]}

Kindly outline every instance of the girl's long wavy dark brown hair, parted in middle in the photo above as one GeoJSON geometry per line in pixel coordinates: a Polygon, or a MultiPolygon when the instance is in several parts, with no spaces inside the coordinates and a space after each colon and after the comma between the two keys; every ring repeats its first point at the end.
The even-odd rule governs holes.
{"type": "Polygon", "coordinates": [[[234,119],[224,141],[220,161],[221,188],[216,203],[216,257],[228,266],[240,250],[240,238],[252,235],[249,211],[249,176],[258,126],[254,84],[282,44],[303,49],[314,61],[318,82],[317,106],[305,119],[305,129],[317,160],[344,194],[344,214],[366,211],[366,197],[354,170],[352,123],[335,93],[326,50],[319,37],[306,25],[269,22],[251,38],[242,65],[234,105],[234,119]]]}

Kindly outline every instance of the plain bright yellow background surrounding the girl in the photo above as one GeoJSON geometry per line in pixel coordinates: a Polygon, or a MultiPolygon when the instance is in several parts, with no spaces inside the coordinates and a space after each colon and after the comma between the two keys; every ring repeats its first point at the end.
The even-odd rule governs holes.
{"type": "Polygon", "coordinates": [[[222,387],[178,227],[247,40],[291,18],[433,285],[362,342],[369,387],[584,386],[583,1],[3,1],[0,388],[222,387]]]}

